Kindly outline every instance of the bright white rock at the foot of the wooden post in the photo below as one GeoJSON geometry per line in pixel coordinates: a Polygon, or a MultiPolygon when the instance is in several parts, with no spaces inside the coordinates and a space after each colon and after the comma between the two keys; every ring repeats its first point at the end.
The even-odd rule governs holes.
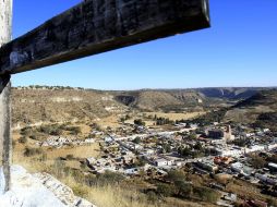
{"type": "Polygon", "coordinates": [[[47,173],[31,174],[21,166],[11,168],[11,190],[3,192],[0,168],[1,207],[96,207],[75,196],[70,187],[47,173]]]}

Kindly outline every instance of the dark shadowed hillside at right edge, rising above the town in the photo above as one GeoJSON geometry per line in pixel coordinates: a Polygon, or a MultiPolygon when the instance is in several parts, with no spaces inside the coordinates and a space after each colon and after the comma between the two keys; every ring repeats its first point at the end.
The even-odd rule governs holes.
{"type": "Polygon", "coordinates": [[[263,90],[240,101],[226,113],[225,120],[276,129],[277,90],[263,90]]]}

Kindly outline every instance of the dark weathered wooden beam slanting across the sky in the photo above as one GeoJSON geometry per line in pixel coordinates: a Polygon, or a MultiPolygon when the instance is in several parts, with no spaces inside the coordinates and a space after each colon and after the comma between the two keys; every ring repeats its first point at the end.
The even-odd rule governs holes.
{"type": "Polygon", "coordinates": [[[0,74],[206,27],[208,0],[85,0],[2,47],[0,74]]]}

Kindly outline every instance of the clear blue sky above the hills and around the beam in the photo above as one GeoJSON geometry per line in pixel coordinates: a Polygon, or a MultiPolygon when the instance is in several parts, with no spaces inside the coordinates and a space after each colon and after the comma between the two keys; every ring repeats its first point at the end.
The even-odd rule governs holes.
{"type": "MultiPolygon", "coordinates": [[[[17,37],[80,0],[14,0],[17,37]]],[[[212,28],[13,76],[97,89],[277,85],[277,1],[210,0],[212,28]]]]}

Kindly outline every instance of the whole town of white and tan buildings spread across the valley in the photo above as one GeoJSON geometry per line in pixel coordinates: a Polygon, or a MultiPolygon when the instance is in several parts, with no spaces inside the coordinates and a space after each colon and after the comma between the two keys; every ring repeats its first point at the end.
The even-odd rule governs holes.
{"type": "MultiPolygon", "coordinates": [[[[192,121],[145,126],[140,119],[122,122],[118,129],[101,131],[95,125],[86,139],[50,136],[37,145],[61,148],[98,144],[100,156],[87,157],[85,162],[94,174],[110,171],[127,178],[143,174],[164,181],[170,171],[185,169],[197,175],[241,180],[277,196],[277,138],[269,129],[192,121]]],[[[220,192],[217,205],[234,206],[238,195],[226,191],[226,184],[206,184],[220,192]]],[[[267,206],[255,197],[244,200],[244,206],[254,205],[267,206]]]]}

